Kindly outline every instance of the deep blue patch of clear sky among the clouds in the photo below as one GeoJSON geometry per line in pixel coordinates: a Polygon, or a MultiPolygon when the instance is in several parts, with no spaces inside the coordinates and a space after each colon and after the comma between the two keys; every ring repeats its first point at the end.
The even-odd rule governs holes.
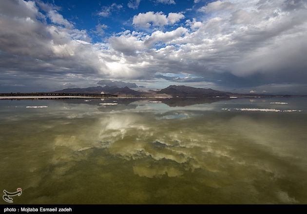
{"type": "MultiPolygon", "coordinates": [[[[44,1],[48,3],[48,1],[44,1]]],[[[138,8],[129,8],[128,0],[104,0],[104,1],[84,1],[84,0],[54,0],[49,3],[60,7],[60,14],[79,30],[86,30],[92,37],[93,42],[103,41],[114,33],[124,30],[141,31],[151,34],[157,28],[137,29],[133,25],[133,17],[139,13],[149,11],[163,12],[166,16],[169,13],[183,13],[184,19],[181,19],[174,25],[165,25],[159,30],[166,32],[176,29],[178,26],[185,26],[187,19],[195,17],[196,10],[200,6],[206,5],[206,0],[200,0],[197,4],[194,0],[175,0],[175,4],[157,3],[155,0],[141,0],[138,8]],[[112,7],[112,5],[114,5],[112,7]],[[120,5],[120,6],[118,6],[120,5]],[[197,5],[197,7],[195,7],[197,5]],[[111,9],[109,9],[111,8],[111,9]],[[99,16],[99,13],[107,10],[105,16],[99,16]],[[96,26],[105,26],[100,34],[97,34],[96,26]],[[103,33],[101,33],[103,32],[103,33]]],[[[50,20],[47,20],[50,22],[50,20]]]]}

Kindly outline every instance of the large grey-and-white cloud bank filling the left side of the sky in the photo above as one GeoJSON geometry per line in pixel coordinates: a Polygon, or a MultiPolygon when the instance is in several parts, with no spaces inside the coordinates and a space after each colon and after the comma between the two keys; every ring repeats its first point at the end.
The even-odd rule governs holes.
{"type": "MultiPolygon", "coordinates": [[[[115,73],[123,78],[129,76],[126,65],[120,58],[112,57],[106,44],[91,43],[86,30],[76,29],[62,16],[54,19],[50,13],[55,8],[39,5],[43,4],[23,0],[0,2],[0,84],[16,82],[12,77],[19,77],[32,81],[32,87],[50,84],[51,88],[56,87],[52,81],[57,80],[60,86],[61,81],[76,78],[84,81],[115,73]],[[39,7],[46,15],[39,12],[39,7]],[[41,83],[43,79],[49,79],[50,83],[41,83]]],[[[105,25],[98,27],[103,29],[105,25]]],[[[96,83],[93,79],[87,81],[96,83]]]]}

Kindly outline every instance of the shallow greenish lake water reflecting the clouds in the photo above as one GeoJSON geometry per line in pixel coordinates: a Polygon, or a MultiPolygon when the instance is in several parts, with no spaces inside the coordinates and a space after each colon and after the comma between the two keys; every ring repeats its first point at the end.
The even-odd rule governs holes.
{"type": "Polygon", "coordinates": [[[307,203],[307,98],[0,100],[0,118],[14,203],[307,203]]]}

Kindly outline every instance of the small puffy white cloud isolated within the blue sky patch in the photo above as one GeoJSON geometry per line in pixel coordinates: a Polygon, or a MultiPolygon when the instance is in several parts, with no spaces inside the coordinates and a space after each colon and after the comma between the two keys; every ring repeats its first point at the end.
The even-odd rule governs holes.
{"type": "Polygon", "coordinates": [[[174,24],[180,19],[185,18],[182,13],[169,13],[166,16],[163,12],[147,12],[147,13],[139,13],[134,16],[133,24],[136,27],[148,28],[151,26],[155,27],[163,27],[165,25],[174,24]]]}

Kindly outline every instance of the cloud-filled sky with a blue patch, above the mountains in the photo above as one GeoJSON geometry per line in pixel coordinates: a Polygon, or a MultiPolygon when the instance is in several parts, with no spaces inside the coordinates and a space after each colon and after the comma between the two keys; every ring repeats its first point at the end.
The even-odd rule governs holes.
{"type": "Polygon", "coordinates": [[[306,0],[0,0],[0,93],[135,82],[307,94],[306,0]]]}

